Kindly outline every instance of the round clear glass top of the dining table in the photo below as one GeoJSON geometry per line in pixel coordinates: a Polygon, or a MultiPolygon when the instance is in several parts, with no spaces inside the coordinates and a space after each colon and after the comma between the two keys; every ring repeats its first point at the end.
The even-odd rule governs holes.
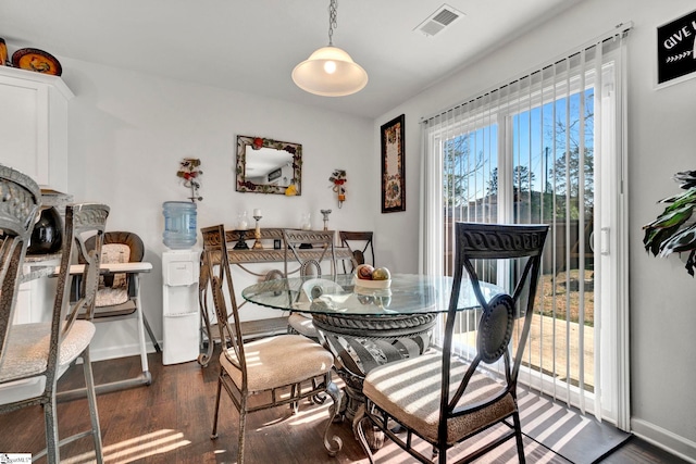
{"type": "MultiPolygon", "coordinates": [[[[351,274],[331,278],[294,277],[251,285],[241,296],[266,308],[325,315],[394,316],[447,312],[452,277],[394,274],[387,288],[361,281],[351,274]]],[[[384,284],[383,284],[384,285],[384,284]]],[[[488,301],[501,288],[481,283],[488,301]]],[[[469,279],[462,280],[458,310],[478,308],[469,279]]]]}

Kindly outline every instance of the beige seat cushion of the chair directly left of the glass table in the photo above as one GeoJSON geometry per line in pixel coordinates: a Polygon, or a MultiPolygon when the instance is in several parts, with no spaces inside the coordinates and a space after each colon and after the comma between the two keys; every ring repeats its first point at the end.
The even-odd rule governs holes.
{"type": "MultiPolygon", "coordinates": [[[[333,354],[301,335],[262,338],[245,343],[244,349],[249,391],[298,384],[326,374],[334,364],[333,354]]],[[[237,387],[241,388],[241,371],[231,360],[237,360],[234,350],[224,350],[220,355],[220,364],[237,387]]]]}

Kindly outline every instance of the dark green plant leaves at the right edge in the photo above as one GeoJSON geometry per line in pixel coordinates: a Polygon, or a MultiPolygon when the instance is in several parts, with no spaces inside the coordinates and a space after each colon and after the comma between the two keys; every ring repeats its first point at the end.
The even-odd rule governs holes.
{"type": "Polygon", "coordinates": [[[650,224],[643,226],[646,251],[660,258],[671,253],[688,252],[686,271],[694,276],[696,267],[696,171],[676,173],[674,180],[684,190],[679,195],[660,200],[667,203],[664,211],[650,224]]]}

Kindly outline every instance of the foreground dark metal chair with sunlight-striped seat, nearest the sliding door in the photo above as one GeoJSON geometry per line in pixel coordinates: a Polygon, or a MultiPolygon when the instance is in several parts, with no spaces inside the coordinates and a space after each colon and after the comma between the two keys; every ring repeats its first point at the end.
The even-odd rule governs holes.
{"type": "MultiPolygon", "coordinates": [[[[455,276],[442,353],[385,364],[365,376],[362,391],[369,422],[418,461],[433,462],[415,449],[414,436],[430,443],[432,457],[444,464],[447,450],[455,444],[496,424],[505,424],[509,428],[506,434],[456,462],[472,462],[512,437],[517,439],[520,462],[525,462],[517,381],[532,323],[547,231],[546,225],[456,224],[455,276]],[[474,264],[480,260],[509,261],[510,277],[517,281],[510,294],[499,293],[486,300],[474,264]],[[457,335],[455,319],[464,273],[471,279],[482,309],[476,352],[469,364],[452,354],[457,335]],[[512,351],[514,358],[511,360],[512,351]],[[502,365],[498,362],[500,358],[502,365]],[[497,365],[494,368],[492,364],[497,365]],[[496,368],[502,375],[493,378],[496,368]],[[406,430],[406,438],[393,431],[397,423],[406,430]]],[[[358,432],[372,463],[372,452],[362,428],[364,422],[358,432]]]]}

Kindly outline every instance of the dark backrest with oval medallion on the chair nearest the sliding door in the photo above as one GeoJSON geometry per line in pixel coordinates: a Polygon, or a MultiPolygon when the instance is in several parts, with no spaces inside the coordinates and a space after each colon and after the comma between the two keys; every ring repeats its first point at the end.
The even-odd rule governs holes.
{"type": "MultiPolygon", "coordinates": [[[[508,393],[517,394],[518,373],[534,314],[534,299],[536,297],[542,252],[544,251],[548,231],[547,225],[457,223],[455,227],[455,275],[443,346],[440,439],[446,439],[447,418],[463,412],[457,410],[457,403],[465,394],[469,380],[481,362],[493,364],[498,362],[500,358],[504,359],[505,387],[500,391],[490,392],[490,397],[487,400],[482,400],[477,403],[478,405],[497,401],[508,393]],[[486,300],[476,274],[475,264],[480,260],[508,260],[510,277],[515,283],[513,290],[510,293],[499,293],[490,300],[486,300]],[[450,394],[450,363],[452,340],[455,338],[455,319],[464,273],[471,279],[476,300],[481,305],[481,319],[476,334],[476,354],[469,365],[459,388],[453,394],[450,394]],[[515,330],[515,319],[520,318],[523,319],[524,324],[521,330],[515,330]],[[517,339],[512,343],[515,354],[511,363],[509,346],[513,333],[517,334],[517,339]]],[[[472,386],[472,388],[475,387],[472,386]]]]}

